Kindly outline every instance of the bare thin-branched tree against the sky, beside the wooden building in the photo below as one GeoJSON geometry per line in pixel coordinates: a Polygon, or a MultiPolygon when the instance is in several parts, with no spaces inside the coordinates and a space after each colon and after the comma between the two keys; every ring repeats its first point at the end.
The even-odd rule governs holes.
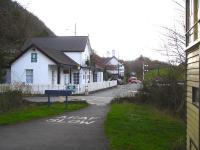
{"type": "Polygon", "coordinates": [[[176,6],[177,17],[174,20],[173,27],[161,26],[161,40],[163,44],[161,49],[156,49],[162,54],[168,56],[171,64],[185,64],[185,1],[172,0],[176,6]]]}

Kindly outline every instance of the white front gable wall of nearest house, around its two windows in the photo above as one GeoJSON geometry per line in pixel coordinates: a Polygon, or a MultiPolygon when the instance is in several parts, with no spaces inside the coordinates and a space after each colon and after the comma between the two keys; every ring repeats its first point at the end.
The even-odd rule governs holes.
{"type": "Polygon", "coordinates": [[[30,49],[11,65],[11,83],[26,83],[26,69],[33,69],[33,84],[49,84],[49,65],[55,63],[40,51],[30,49]],[[37,53],[37,62],[31,62],[31,53],[37,53]]]}

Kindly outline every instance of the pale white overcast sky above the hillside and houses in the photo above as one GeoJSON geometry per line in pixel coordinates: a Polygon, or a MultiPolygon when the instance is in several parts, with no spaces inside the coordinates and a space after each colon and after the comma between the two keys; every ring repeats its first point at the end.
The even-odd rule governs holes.
{"type": "Polygon", "coordinates": [[[116,51],[120,59],[140,55],[167,61],[152,50],[162,45],[160,26],[172,26],[177,10],[172,0],[17,0],[56,35],[89,35],[101,56],[116,51]]]}

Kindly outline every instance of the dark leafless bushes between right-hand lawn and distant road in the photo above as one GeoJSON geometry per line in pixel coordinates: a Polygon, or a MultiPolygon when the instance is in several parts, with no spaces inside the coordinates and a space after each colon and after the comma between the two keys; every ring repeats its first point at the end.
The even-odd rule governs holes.
{"type": "Polygon", "coordinates": [[[169,111],[185,119],[185,85],[176,81],[158,83],[148,81],[134,97],[115,98],[112,103],[145,103],[169,111]]]}

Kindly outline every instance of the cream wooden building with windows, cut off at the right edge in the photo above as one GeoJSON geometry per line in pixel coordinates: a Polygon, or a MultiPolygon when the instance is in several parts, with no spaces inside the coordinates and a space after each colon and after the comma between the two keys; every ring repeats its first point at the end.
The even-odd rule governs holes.
{"type": "Polygon", "coordinates": [[[186,0],[187,150],[200,150],[200,0],[186,0]]]}

